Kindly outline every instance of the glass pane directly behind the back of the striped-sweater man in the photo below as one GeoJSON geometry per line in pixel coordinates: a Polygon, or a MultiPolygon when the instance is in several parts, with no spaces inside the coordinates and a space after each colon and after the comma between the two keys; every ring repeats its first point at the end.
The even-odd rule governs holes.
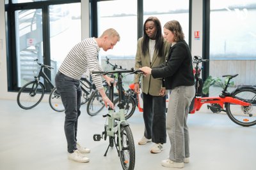
{"type": "Polygon", "coordinates": [[[71,48],[81,41],[81,3],[49,6],[51,74],[52,83],[56,71],[71,48]]]}

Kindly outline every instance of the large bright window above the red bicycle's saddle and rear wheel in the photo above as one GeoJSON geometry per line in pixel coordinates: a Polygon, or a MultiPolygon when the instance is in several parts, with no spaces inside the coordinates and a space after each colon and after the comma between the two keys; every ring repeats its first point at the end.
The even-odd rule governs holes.
{"type": "Polygon", "coordinates": [[[256,1],[212,0],[209,74],[239,74],[235,85],[256,84],[256,1]]]}

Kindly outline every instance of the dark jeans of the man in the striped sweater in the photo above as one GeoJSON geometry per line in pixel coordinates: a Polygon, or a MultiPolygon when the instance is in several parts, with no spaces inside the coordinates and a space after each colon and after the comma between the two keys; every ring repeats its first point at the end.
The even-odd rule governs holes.
{"type": "Polygon", "coordinates": [[[60,92],[61,101],[65,108],[65,135],[68,152],[76,150],[77,120],[81,113],[81,86],[79,80],[69,78],[58,72],[55,77],[56,89],[60,92]]]}

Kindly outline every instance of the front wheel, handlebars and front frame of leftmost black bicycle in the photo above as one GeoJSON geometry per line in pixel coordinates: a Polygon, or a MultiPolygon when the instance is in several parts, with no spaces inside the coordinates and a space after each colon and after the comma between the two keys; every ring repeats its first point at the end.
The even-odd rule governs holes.
{"type": "Polygon", "coordinates": [[[38,62],[38,59],[35,59],[37,64],[40,66],[40,71],[37,76],[34,77],[33,81],[29,81],[26,83],[18,92],[17,103],[20,108],[24,110],[29,110],[38,105],[45,94],[45,85],[40,81],[40,78],[44,78],[44,80],[50,85],[51,89],[54,89],[54,85],[52,84],[49,77],[44,73],[44,69],[54,69],[51,66],[44,65],[38,62]]]}

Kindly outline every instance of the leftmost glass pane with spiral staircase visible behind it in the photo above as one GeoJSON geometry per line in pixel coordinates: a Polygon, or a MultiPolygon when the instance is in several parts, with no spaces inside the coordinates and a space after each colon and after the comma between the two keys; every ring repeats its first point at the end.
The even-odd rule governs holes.
{"type": "Polygon", "coordinates": [[[15,11],[16,53],[18,87],[21,87],[38,74],[38,65],[42,57],[42,10],[15,11]]]}

